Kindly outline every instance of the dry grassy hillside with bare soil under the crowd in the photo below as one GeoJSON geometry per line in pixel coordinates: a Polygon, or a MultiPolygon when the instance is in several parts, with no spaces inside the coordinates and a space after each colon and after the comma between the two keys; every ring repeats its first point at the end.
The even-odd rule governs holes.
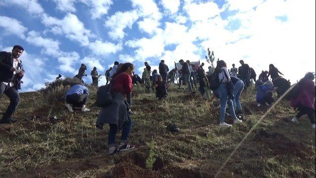
{"type": "MultiPolygon", "coordinates": [[[[252,89],[242,94],[245,119],[232,128],[218,126],[219,104],[198,93],[171,87],[165,101],[135,87],[130,152],[108,155],[106,126],[95,128],[99,109],[90,113],[66,111],[66,89],[56,85],[48,93],[21,94],[15,117],[0,125],[0,177],[114,177],[210,178],[219,170],[254,123],[267,110],[258,108],[252,89]],[[56,116],[56,124],[48,118],[56,116]],[[166,131],[176,123],[180,133],[166,131]]],[[[91,105],[96,89],[90,89],[91,105]]],[[[1,98],[0,110],[9,100],[1,98]]],[[[315,132],[307,117],[299,124],[287,102],[281,102],[237,150],[220,177],[315,177],[315,132]]],[[[229,120],[229,118],[228,118],[229,120]]],[[[231,122],[230,120],[228,122],[231,122]]]]}

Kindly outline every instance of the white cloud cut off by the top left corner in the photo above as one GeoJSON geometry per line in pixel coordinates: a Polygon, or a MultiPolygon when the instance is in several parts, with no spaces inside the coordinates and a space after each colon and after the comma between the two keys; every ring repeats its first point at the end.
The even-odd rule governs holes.
{"type": "Polygon", "coordinates": [[[22,7],[25,8],[29,13],[37,15],[44,12],[44,9],[37,0],[2,0],[0,5],[15,5],[14,9],[16,7],[22,7]]]}

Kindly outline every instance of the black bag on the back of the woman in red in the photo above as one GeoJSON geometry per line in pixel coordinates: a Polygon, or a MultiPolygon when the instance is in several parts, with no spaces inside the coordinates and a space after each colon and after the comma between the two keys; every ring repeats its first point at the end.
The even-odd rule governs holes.
{"type": "Polygon", "coordinates": [[[95,102],[98,107],[105,107],[112,103],[113,95],[110,89],[111,84],[99,87],[95,102]]]}

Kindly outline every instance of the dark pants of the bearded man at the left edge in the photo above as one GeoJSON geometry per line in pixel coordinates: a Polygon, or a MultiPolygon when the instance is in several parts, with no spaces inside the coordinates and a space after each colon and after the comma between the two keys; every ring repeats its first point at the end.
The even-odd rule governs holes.
{"type": "Polygon", "coordinates": [[[0,82],[0,99],[3,93],[9,97],[10,104],[5,113],[2,115],[2,119],[8,119],[12,116],[20,103],[20,95],[14,87],[6,87],[2,82],[0,82]]]}

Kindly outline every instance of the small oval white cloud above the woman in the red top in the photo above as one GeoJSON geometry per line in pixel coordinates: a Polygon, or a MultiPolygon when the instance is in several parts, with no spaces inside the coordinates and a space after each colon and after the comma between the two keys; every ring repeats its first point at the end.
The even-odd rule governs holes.
{"type": "Polygon", "coordinates": [[[116,53],[117,51],[121,50],[122,45],[121,44],[115,45],[109,42],[103,43],[99,40],[96,40],[94,43],[89,44],[89,48],[96,55],[107,55],[110,53],[116,53]]]}

